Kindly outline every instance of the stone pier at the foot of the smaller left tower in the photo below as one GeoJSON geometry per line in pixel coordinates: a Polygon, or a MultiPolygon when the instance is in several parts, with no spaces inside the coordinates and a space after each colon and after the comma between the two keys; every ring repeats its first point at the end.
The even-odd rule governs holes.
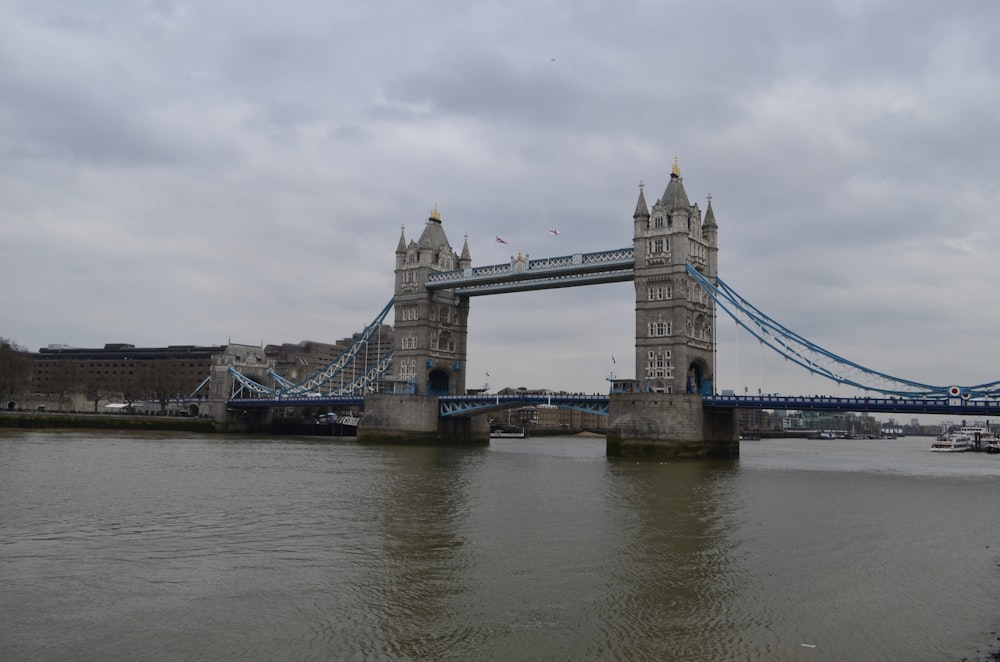
{"type": "Polygon", "coordinates": [[[486,414],[441,418],[436,396],[370,393],[358,424],[359,442],[486,446],[486,414]]]}

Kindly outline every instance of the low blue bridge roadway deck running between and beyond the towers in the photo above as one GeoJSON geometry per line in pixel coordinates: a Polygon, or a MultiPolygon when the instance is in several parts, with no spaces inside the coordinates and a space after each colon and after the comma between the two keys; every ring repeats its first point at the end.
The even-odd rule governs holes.
{"type": "MultiPolygon", "coordinates": [[[[666,396],[666,394],[664,394],[666,396]]],[[[795,395],[706,395],[704,406],[732,409],[784,409],[789,411],[844,411],[857,413],[940,414],[952,416],[1000,416],[1000,400],[963,398],[838,398],[795,395]]],[[[364,396],[307,398],[233,398],[229,409],[269,407],[319,407],[364,405],[364,396]]],[[[610,396],[574,393],[524,393],[511,395],[446,395],[438,398],[442,418],[470,416],[524,405],[551,405],[607,416],[610,396]]]]}

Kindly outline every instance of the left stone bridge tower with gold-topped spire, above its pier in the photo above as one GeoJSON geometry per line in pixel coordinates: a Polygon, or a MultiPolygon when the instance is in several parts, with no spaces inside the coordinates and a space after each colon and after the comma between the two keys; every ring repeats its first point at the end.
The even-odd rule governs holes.
{"type": "Polygon", "coordinates": [[[452,249],[435,206],[417,241],[406,241],[405,227],[396,248],[393,379],[415,395],[463,395],[469,334],[469,298],[452,290],[430,290],[434,271],[472,266],[469,239],[462,254],[452,249]]]}

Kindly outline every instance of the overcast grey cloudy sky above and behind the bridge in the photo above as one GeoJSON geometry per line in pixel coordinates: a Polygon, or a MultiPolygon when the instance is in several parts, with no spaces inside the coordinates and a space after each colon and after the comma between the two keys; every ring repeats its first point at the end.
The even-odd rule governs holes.
{"type": "MultiPolygon", "coordinates": [[[[1000,379],[998,63],[994,0],[8,0],[0,336],[333,342],[435,205],[476,265],[630,246],[676,155],[770,316],[1000,379]]],[[[629,283],[474,298],[468,385],[606,391],[633,310],[629,283]]],[[[720,320],[719,388],[838,393],[720,320]]]]}

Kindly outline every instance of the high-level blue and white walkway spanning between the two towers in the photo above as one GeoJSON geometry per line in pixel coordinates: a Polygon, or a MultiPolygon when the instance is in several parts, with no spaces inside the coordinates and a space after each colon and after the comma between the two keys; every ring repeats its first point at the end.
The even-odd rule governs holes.
{"type": "Polygon", "coordinates": [[[620,283],[635,277],[635,251],[618,248],[432,273],[428,289],[449,289],[463,296],[545,290],[577,285],[620,283]]]}

